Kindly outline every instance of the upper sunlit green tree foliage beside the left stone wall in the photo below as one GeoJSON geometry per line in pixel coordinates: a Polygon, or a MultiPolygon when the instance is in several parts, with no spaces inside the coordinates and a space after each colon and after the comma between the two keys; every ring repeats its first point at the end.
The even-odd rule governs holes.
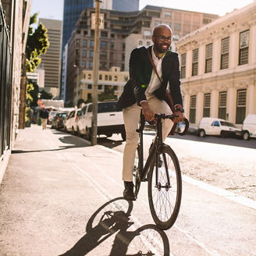
{"type": "Polygon", "coordinates": [[[37,22],[37,15],[38,13],[35,13],[33,16],[30,17],[30,27],[28,30],[26,45],[27,72],[34,72],[34,70],[41,62],[39,56],[43,53],[46,53],[47,48],[50,45],[48,41],[47,29],[42,23],[40,23],[35,30],[31,27],[32,24],[37,22]]]}

